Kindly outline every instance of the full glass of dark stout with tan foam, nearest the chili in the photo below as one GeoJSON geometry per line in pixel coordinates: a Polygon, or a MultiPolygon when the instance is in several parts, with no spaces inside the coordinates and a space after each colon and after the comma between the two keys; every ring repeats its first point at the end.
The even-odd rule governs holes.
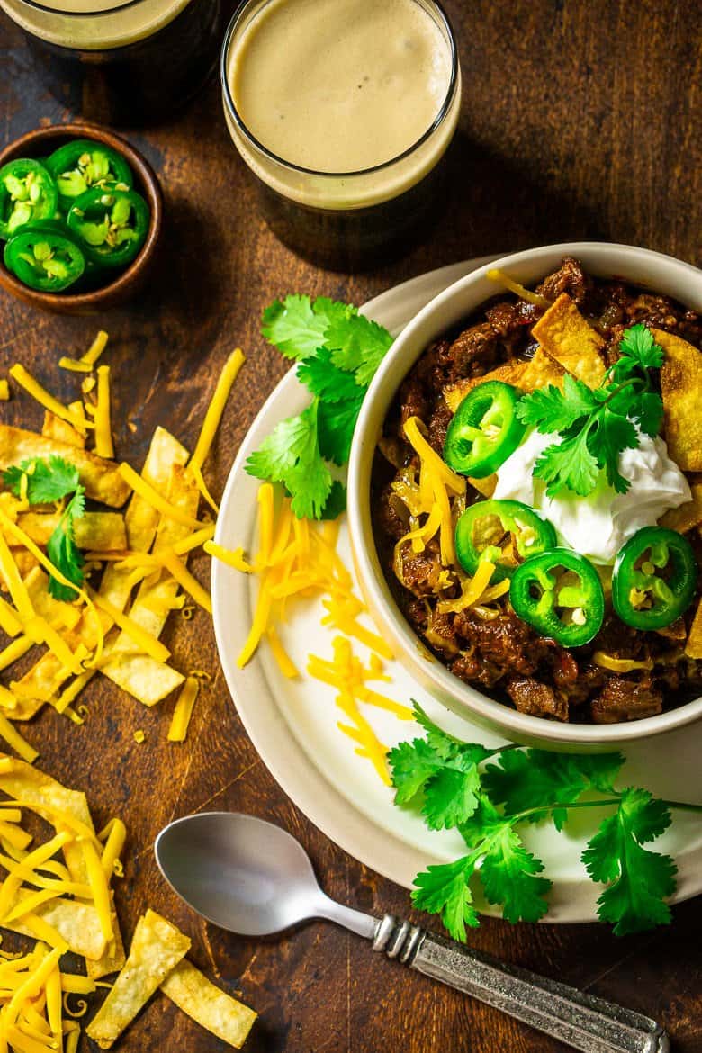
{"type": "Polygon", "coordinates": [[[336,270],[427,226],[461,74],[433,0],[246,0],[221,62],[232,138],[274,233],[336,270]]]}

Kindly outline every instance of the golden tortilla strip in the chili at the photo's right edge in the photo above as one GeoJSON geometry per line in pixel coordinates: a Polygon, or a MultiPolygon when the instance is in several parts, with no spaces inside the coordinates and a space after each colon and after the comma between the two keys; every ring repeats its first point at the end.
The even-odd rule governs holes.
{"type": "Polygon", "coordinates": [[[691,343],[654,330],[665,352],[661,391],[668,454],[683,472],[702,472],[702,352],[691,343]]]}

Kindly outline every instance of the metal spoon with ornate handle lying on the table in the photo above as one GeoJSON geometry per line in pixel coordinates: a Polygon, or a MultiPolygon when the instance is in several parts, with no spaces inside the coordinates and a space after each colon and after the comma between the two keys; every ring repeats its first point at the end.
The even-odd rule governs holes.
{"type": "Polygon", "coordinates": [[[327,918],[441,980],[584,1053],[668,1053],[655,1020],[518,969],[392,914],[374,918],[329,899],[290,834],[237,812],[177,819],[156,839],[161,873],[198,914],[243,936],[327,918]]]}

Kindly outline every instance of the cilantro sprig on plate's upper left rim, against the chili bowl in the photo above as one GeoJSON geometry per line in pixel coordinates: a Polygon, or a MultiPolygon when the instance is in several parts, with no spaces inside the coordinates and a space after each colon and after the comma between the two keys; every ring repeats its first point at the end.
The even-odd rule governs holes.
{"type": "Polygon", "coordinates": [[[345,508],[345,488],[332,465],[348,460],[363,396],[393,337],[348,303],[298,295],[267,307],[261,332],[299,363],[298,379],[313,400],[273,430],[246,471],[281,482],[299,518],[334,519],[345,508]]]}

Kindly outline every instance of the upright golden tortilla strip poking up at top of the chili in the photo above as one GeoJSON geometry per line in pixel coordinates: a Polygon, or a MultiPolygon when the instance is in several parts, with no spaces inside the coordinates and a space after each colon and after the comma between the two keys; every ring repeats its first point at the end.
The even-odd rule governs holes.
{"type": "Polygon", "coordinates": [[[600,386],[606,369],[601,354],[604,340],[583,318],[567,293],[561,293],[531,334],[546,354],[574,377],[588,388],[600,386]]]}

